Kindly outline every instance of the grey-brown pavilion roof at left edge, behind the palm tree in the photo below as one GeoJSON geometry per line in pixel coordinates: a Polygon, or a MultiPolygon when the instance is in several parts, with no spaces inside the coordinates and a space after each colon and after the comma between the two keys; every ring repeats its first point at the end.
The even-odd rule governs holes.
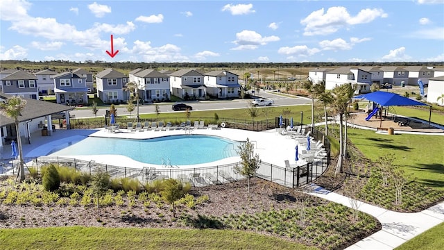
{"type": "MultiPolygon", "coordinates": [[[[12,96],[10,94],[0,93],[1,101],[6,100],[9,97],[12,96]]],[[[39,101],[35,99],[28,99],[28,98],[24,99],[26,100],[27,103],[24,110],[22,111],[22,115],[18,117],[19,122],[28,121],[30,119],[35,119],[38,117],[44,117],[46,115],[51,115],[62,111],[74,110],[74,107],[71,106],[51,103],[48,101],[39,101]]],[[[14,119],[11,119],[0,113],[0,127],[9,124],[14,124],[14,119]]]]}

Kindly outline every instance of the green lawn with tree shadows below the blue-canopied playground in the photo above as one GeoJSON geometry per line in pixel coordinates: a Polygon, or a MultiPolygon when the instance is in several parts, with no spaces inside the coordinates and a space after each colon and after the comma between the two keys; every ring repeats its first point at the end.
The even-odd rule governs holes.
{"type": "Polygon", "coordinates": [[[348,128],[348,138],[370,160],[394,153],[395,164],[413,173],[416,181],[444,190],[444,136],[382,135],[375,131],[348,128]]]}

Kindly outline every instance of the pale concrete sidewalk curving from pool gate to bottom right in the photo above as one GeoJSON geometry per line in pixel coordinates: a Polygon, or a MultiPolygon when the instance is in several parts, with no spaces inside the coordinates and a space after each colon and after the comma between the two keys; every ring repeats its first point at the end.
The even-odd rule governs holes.
{"type": "MultiPolygon", "coordinates": [[[[311,185],[312,194],[329,201],[341,203],[351,208],[350,199],[341,194],[325,190],[318,185],[311,185]]],[[[382,230],[352,244],[347,250],[358,249],[394,249],[407,240],[444,222],[444,201],[419,213],[398,213],[359,201],[361,212],[373,215],[382,224],[382,230]]]]}

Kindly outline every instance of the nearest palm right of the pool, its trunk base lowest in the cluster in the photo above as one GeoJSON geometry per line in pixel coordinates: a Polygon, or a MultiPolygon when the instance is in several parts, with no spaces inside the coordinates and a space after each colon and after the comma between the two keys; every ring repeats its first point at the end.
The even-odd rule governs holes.
{"type": "Polygon", "coordinates": [[[336,165],[336,170],[334,174],[339,174],[342,171],[343,166],[343,158],[344,158],[344,151],[343,151],[343,115],[345,112],[347,112],[348,107],[348,92],[349,92],[350,85],[343,84],[339,85],[338,87],[334,88],[332,90],[332,108],[338,113],[339,115],[339,158],[338,158],[338,164],[336,165]]]}

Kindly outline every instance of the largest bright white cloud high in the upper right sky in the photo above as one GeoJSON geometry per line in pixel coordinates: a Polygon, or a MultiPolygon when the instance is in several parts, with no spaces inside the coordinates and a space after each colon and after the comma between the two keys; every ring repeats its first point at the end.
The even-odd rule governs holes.
{"type": "Polygon", "coordinates": [[[324,8],[311,12],[300,24],[305,25],[304,35],[328,35],[348,25],[372,22],[377,17],[384,18],[387,14],[381,9],[364,9],[352,17],[345,7],[337,6],[328,8],[327,12],[324,8]]]}

